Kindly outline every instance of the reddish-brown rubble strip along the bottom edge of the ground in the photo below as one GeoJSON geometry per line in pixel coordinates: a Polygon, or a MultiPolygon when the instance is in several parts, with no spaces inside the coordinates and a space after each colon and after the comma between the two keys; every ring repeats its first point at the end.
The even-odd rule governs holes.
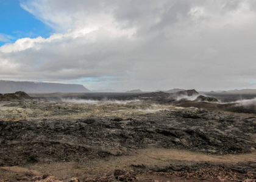
{"type": "MultiPolygon", "coordinates": [[[[9,180],[4,180],[9,181],[9,180]]],[[[37,181],[37,182],[110,182],[110,181],[137,181],[137,182],[176,182],[176,181],[243,181],[243,182],[255,182],[255,175],[251,172],[241,174],[234,170],[225,169],[224,167],[206,167],[204,169],[196,170],[168,170],[168,171],[156,171],[154,169],[141,172],[138,169],[125,170],[116,169],[113,173],[105,174],[98,177],[80,177],[71,178],[70,180],[63,180],[58,177],[40,175],[36,177],[30,177],[25,175],[23,177],[16,177],[16,181],[37,181]]]]}

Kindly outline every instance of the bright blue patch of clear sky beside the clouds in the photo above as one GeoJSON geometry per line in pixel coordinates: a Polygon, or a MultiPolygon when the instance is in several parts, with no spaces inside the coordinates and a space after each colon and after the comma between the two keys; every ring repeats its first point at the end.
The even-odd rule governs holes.
{"type": "Polygon", "coordinates": [[[0,46],[24,37],[48,38],[51,33],[51,27],[21,8],[20,1],[0,1],[0,46]]]}

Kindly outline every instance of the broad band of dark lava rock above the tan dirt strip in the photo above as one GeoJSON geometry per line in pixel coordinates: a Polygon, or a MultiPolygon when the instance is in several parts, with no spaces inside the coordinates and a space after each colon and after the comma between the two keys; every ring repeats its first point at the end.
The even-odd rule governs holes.
{"type": "Polygon", "coordinates": [[[255,118],[198,109],[159,110],[133,118],[0,121],[0,165],[126,155],[149,146],[218,154],[251,152],[256,148],[251,140],[255,124],[255,118]]]}

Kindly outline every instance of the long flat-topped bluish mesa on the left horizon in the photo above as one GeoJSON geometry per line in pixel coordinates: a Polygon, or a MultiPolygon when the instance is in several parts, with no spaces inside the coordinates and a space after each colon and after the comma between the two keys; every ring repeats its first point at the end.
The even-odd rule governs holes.
{"type": "Polygon", "coordinates": [[[31,81],[4,81],[0,80],[0,93],[23,91],[26,93],[52,93],[52,92],[90,92],[79,84],[37,83],[31,81]]]}

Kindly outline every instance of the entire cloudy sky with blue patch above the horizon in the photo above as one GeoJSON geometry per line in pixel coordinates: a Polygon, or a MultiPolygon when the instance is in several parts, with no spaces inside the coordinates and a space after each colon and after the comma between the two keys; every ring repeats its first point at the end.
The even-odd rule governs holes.
{"type": "Polygon", "coordinates": [[[0,79],[256,89],[255,0],[0,0],[0,79]]]}

